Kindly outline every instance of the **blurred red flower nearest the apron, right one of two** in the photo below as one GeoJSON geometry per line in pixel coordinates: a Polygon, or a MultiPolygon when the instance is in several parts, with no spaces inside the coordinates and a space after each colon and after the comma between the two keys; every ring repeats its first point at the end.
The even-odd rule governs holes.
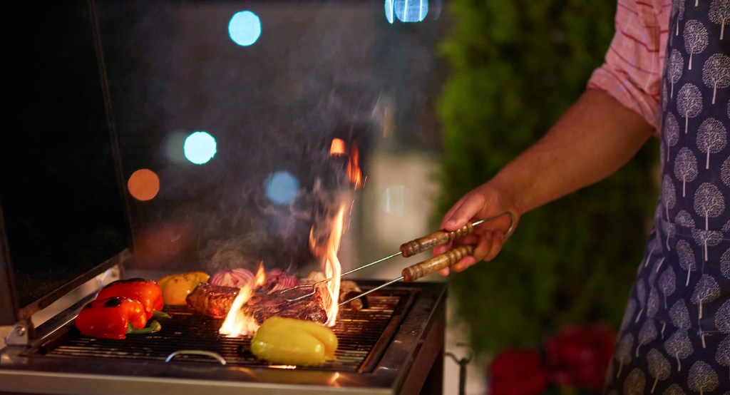
{"type": "Polygon", "coordinates": [[[568,326],[545,343],[552,380],[564,386],[602,390],[615,334],[606,326],[568,326]]]}

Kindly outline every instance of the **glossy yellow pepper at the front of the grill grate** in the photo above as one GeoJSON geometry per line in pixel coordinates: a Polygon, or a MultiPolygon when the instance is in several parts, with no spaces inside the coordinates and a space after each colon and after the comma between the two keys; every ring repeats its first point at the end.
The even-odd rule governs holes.
{"type": "Polygon", "coordinates": [[[272,317],[251,339],[251,352],[274,364],[319,365],[334,358],[337,336],[320,323],[272,317]]]}

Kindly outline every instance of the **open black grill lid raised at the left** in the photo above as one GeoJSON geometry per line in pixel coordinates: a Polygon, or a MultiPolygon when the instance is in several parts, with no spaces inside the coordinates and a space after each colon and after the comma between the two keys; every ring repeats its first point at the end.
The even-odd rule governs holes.
{"type": "Polygon", "coordinates": [[[90,3],[18,1],[0,144],[0,325],[30,318],[129,247],[90,3]],[[64,39],[49,39],[63,31],[64,39]]]}

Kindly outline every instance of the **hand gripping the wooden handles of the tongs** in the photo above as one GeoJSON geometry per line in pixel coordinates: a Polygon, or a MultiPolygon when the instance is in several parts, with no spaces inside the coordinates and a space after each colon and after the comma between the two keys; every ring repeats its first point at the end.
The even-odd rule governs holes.
{"type": "Polygon", "coordinates": [[[456,245],[474,245],[472,256],[465,256],[461,261],[453,264],[450,268],[439,270],[441,275],[448,275],[450,269],[461,272],[478,261],[491,261],[502,250],[502,245],[518,222],[518,212],[506,194],[499,191],[490,183],[485,183],[466,193],[458,200],[444,215],[441,229],[455,231],[469,222],[485,218],[494,218],[485,223],[475,226],[471,234],[445,245],[434,248],[434,256],[447,252],[456,245]],[[500,215],[504,212],[510,215],[500,215]]]}

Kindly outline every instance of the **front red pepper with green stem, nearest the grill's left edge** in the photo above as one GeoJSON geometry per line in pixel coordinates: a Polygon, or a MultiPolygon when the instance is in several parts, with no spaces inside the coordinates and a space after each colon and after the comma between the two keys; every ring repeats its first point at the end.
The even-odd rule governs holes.
{"type": "Polygon", "coordinates": [[[96,299],[86,304],[74,325],[81,334],[90,337],[120,340],[128,333],[151,333],[160,330],[157,321],[147,326],[145,307],[136,300],[123,296],[96,299]]]}

